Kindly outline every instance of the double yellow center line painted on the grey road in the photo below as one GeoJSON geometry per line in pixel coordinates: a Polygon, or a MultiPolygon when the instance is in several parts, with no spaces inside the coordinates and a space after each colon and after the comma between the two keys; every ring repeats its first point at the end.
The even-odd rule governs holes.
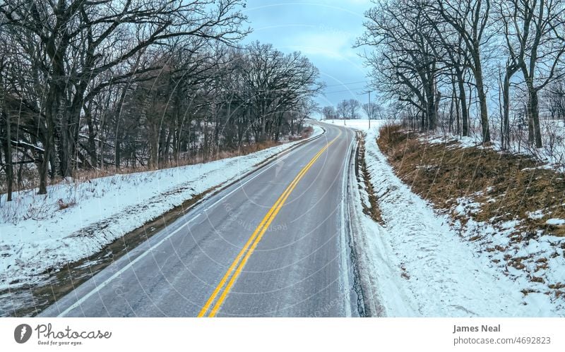
{"type": "Polygon", "coordinates": [[[261,220],[259,226],[257,226],[255,231],[253,231],[251,237],[249,237],[249,239],[247,240],[247,242],[245,243],[245,245],[243,246],[242,250],[239,252],[237,257],[235,257],[235,260],[232,262],[232,265],[230,265],[224,277],[222,277],[222,279],[220,280],[220,284],[216,286],[212,295],[210,296],[210,298],[208,298],[208,301],[206,301],[206,304],[198,313],[198,317],[204,317],[208,313],[208,310],[210,310],[210,307],[213,305],[214,301],[215,304],[213,305],[212,310],[210,310],[210,312],[208,313],[208,317],[215,317],[215,315],[218,313],[218,310],[220,310],[220,307],[224,303],[227,294],[230,293],[230,290],[232,289],[232,286],[234,285],[237,277],[239,277],[239,274],[242,273],[242,270],[247,260],[249,260],[249,257],[251,256],[251,253],[253,253],[259,241],[261,241],[261,238],[263,238],[263,234],[265,233],[265,231],[267,231],[268,227],[270,226],[270,223],[273,222],[273,219],[275,219],[275,217],[277,216],[280,208],[283,207],[283,205],[285,204],[285,201],[287,200],[290,193],[292,193],[292,190],[295,189],[298,181],[300,181],[300,179],[304,176],[304,174],[307,173],[307,171],[314,164],[314,162],[316,162],[316,160],[321,156],[321,154],[323,154],[323,152],[325,152],[328,149],[328,147],[333,142],[335,142],[335,140],[339,138],[340,135],[341,135],[341,130],[337,137],[331,140],[331,142],[328,142],[328,144],[326,144],[325,147],[323,147],[319,152],[316,153],[316,155],[314,155],[314,157],[310,160],[310,162],[306,166],[304,166],[302,170],[300,170],[300,172],[297,174],[295,179],[292,180],[290,185],[287,186],[283,194],[280,195],[278,200],[275,202],[275,205],[273,205],[273,207],[270,208],[270,210],[267,212],[265,217],[263,217],[263,220],[261,220]],[[220,295],[219,298],[218,295],[220,295]],[[216,300],[216,298],[218,298],[218,300],[216,300]]]}

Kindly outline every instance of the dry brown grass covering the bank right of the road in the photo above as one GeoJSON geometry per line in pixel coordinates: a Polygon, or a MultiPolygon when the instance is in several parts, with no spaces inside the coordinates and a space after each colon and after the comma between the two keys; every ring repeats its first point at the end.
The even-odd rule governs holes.
{"type": "Polygon", "coordinates": [[[467,196],[481,204],[471,214],[477,221],[523,220],[516,241],[537,229],[565,236],[565,226],[545,224],[549,218],[565,218],[563,174],[537,168],[540,164],[523,155],[458,147],[456,142],[427,144],[419,136],[386,126],[377,142],[398,176],[436,207],[450,209],[457,198],[467,196]],[[530,219],[528,212],[536,210],[544,217],[530,219]]]}

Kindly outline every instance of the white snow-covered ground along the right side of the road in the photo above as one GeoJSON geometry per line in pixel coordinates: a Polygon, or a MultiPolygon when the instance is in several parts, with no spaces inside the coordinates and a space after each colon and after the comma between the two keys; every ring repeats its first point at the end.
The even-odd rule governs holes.
{"type": "MultiPolygon", "coordinates": [[[[331,121],[326,121],[330,122],[331,121]]],[[[334,121],[342,125],[343,121],[334,121]]],[[[432,205],[410,191],[394,174],[376,138],[386,121],[346,121],[366,133],[365,162],[374,187],[383,225],[357,207],[359,238],[357,258],[367,271],[371,289],[386,316],[425,317],[546,317],[565,316],[564,300],[552,301],[544,293],[521,290],[532,283],[525,272],[508,276],[480,252],[478,243],[465,241],[451,218],[434,212],[432,205]]],[[[363,190],[351,188],[357,199],[363,190]]],[[[368,203],[367,203],[368,204],[368,203]]],[[[475,229],[476,230],[476,229],[475,229]]],[[[482,229],[480,229],[482,230],[482,229]]],[[[503,236],[499,236],[503,238],[503,236]]],[[[540,246],[546,245],[542,243],[540,246]]],[[[538,248],[523,248],[525,252],[538,248]]],[[[565,278],[565,262],[557,259],[554,275],[565,278]]],[[[364,293],[366,294],[366,293],[364,293]]]]}

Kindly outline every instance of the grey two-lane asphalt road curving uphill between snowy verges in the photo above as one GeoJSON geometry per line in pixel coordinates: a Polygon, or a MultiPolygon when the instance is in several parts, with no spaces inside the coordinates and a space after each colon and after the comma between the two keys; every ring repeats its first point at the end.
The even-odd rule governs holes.
{"type": "Polygon", "coordinates": [[[355,132],[323,128],[40,316],[357,316],[344,216],[355,132]]]}

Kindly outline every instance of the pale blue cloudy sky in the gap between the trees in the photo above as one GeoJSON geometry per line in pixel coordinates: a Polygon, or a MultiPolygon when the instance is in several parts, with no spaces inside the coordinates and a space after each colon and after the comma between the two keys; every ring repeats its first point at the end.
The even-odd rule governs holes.
{"type": "Polygon", "coordinates": [[[328,87],[321,107],[342,99],[367,102],[367,71],[352,49],[363,32],[369,0],[248,0],[244,13],[254,32],[246,42],[271,43],[281,51],[302,51],[328,87]]]}

